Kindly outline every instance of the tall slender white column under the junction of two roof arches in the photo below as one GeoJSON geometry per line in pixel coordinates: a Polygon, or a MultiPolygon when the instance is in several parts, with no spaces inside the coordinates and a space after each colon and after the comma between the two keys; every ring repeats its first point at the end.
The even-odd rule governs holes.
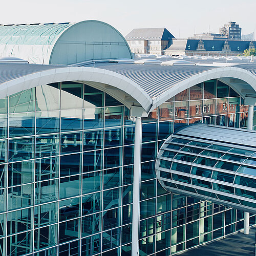
{"type": "Polygon", "coordinates": [[[134,168],[133,168],[132,256],[138,255],[138,248],[139,248],[140,159],[141,159],[141,118],[136,117],[135,139],[134,139],[134,168]]]}

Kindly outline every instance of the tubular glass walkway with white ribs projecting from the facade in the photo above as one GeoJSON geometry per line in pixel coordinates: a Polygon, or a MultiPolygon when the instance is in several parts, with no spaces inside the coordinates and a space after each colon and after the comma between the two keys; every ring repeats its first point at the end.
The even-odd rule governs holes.
{"type": "Polygon", "coordinates": [[[161,147],[156,174],[168,191],[256,213],[256,132],[196,124],[161,147]]]}

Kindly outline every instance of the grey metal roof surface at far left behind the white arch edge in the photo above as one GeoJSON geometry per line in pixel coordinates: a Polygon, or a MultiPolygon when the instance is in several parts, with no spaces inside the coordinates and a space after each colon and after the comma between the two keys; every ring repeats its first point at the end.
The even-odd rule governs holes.
{"type": "Polygon", "coordinates": [[[63,67],[65,66],[36,65],[24,63],[0,63],[0,84],[40,71],[58,69],[63,67]]]}

